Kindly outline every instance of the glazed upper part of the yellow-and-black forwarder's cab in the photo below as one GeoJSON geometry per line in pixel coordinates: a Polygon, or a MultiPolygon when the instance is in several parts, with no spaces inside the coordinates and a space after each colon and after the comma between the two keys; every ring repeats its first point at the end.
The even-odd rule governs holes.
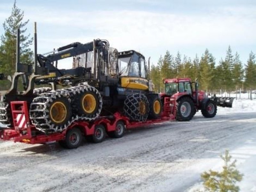
{"type": "Polygon", "coordinates": [[[118,53],[119,76],[147,78],[145,58],[134,50],[118,53]]]}

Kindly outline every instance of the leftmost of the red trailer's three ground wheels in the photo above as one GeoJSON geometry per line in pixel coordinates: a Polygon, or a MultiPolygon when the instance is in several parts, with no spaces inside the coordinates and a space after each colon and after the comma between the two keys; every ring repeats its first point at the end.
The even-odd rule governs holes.
{"type": "Polygon", "coordinates": [[[63,148],[75,149],[82,144],[83,136],[78,128],[72,128],[68,130],[65,140],[59,141],[59,144],[63,148]]]}

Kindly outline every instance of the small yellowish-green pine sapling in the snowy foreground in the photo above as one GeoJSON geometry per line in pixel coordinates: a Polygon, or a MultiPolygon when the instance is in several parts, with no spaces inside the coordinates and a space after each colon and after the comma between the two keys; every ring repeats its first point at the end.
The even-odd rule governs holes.
{"type": "Polygon", "coordinates": [[[209,170],[201,174],[204,188],[210,192],[238,192],[240,189],[235,184],[243,179],[243,174],[236,169],[236,160],[230,163],[228,150],[225,151],[225,156],[220,157],[224,161],[222,172],[209,170]]]}

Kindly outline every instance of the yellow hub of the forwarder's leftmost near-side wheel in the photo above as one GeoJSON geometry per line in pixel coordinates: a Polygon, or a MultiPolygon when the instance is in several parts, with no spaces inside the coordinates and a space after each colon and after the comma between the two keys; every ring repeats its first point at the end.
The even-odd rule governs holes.
{"type": "Polygon", "coordinates": [[[67,108],[65,104],[60,101],[53,103],[50,109],[50,115],[52,121],[55,123],[63,122],[67,116],[67,108]]]}

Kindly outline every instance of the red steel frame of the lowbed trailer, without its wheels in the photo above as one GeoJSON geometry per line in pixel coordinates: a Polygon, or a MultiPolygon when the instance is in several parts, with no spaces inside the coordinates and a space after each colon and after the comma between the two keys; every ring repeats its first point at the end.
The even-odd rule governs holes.
{"type": "Polygon", "coordinates": [[[97,134],[95,133],[95,130],[99,125],[104,126],[105,132],[107,133],[116,131],[117,124],[120,121],[123,122],[126,129],[148,126],[154,123],[174,120],[175,103],[175,98],[165,97],[163,112],[159,119],[151,119],[145,122],[133,122],[128,117],[116,112],[113,116],[102,116],[93,122],[76,121],[62,132],[46,134],[44,132],[39,132],[36,127],[31,124],[26,101],[12,101],[11,110],[13,127],[0,130],[0,139],[30,144],[42,144],[52,141],[64,141],[68,131],[74,128],[79,129],[84,136],[93,136],[94,134],[97,134]]]}

